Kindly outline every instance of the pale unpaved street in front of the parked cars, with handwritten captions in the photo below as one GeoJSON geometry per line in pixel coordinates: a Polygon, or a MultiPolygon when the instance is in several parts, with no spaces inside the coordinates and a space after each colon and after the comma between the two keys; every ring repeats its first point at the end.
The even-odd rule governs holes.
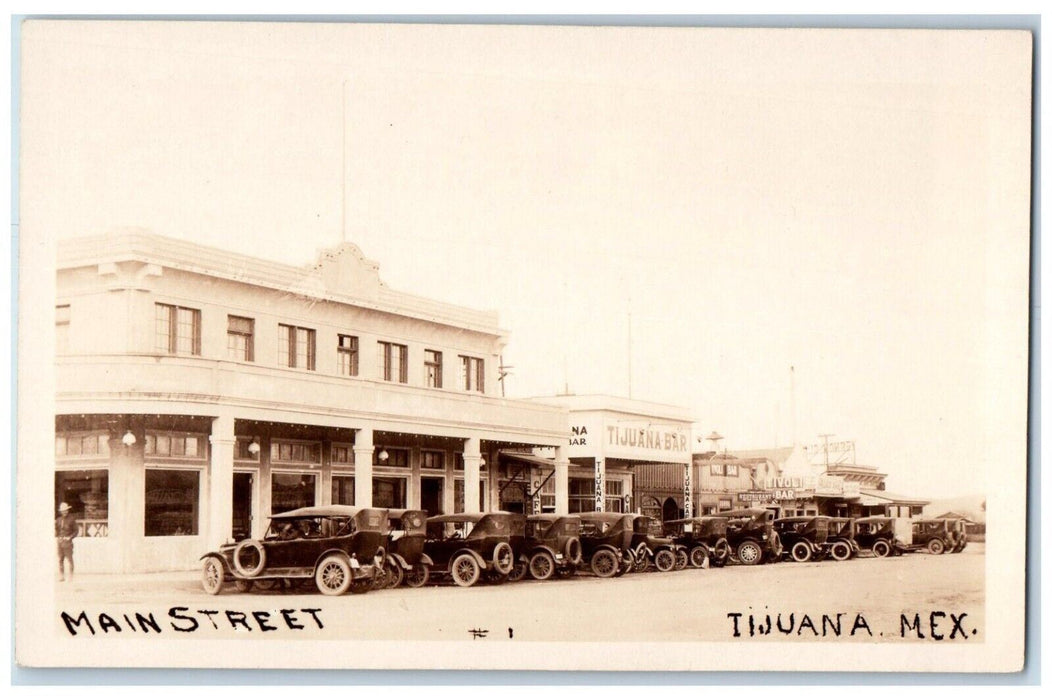
{"type": "MultiPolygon", "coordinates": [[[[608,580],[579,576],[473,588],[436,585],[341,598],[239,594],[232,586],[213,597],[193,573],[87,575],[55,584],[56,624],[66,633],[60,615],[65,611],[74,618],[83,612],[97,635],[103,634],[102,614],[121,627],[119,634],[141,635],[138,613],[153,616],[165,637],[197,624],[197,635],[216,639],[462,641],[479,634],[472,631],[485,631],[487,639],[528,641],[733,641],[734,618],[728,616],[741,614],[737,634],[748,639],[751,614],[753,641],[902,641],[904,631],[906,639],[915,640],[917,632],[903,625],[905,614],[910,623],[920,622],[926,639],[934,623],[935,635],[949,640],[952,633],[953,641],[962,642],[965,635],[983,639],[985,559],[984,546],[970,544],[959,555],[937,557],[728,566],[608,580]],[[169,613],[174,606],[184,608],[176,611],[180,617],[169,613]],[[765,635],[767,615],[771,625],[765,635]]],[[[87,636],[83,619],[74,627],[87,636]]]]}

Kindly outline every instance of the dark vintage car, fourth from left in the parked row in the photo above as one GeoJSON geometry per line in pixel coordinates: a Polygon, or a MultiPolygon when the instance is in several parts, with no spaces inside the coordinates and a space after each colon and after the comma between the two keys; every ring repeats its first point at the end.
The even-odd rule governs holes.
{"type": "Polygon", "coordinates": [[[515,560],[509,580],[520,581],[527,574],[539,581],[552,576],[570,576],[581,563],[581,517],[532,515],[526,518],[522,554],[515,560]]]}

